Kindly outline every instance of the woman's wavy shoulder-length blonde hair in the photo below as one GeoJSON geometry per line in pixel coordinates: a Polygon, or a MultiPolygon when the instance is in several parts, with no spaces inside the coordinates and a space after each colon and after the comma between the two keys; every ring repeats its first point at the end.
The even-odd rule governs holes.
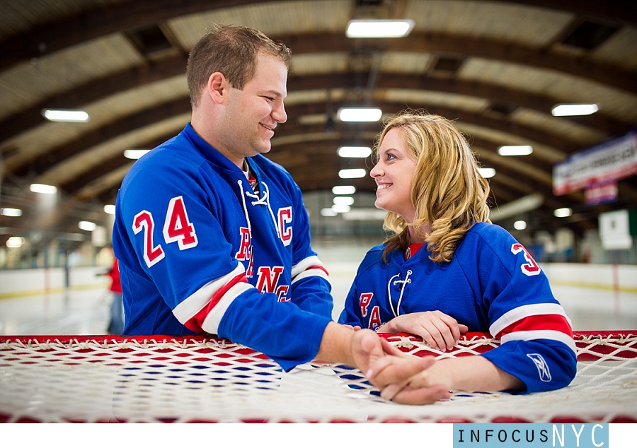
{"type": "MultiPolygon", "coordinates": [[[[489,184],[478,172],[478,162],[466,138],[452,122],[439,115],[403,111],[384,125],[374,155],[391,129],[400,131],[406,150],[416,162],[411,186],[415,207],[413,227],[427,242],[430,259],[451,261],[458,244],[474,223],[489,220],[489,184]],[[430,233],[423,228],[430,224],[430,233]]],[[[394,249],[405,250],[410,238],[406,221],[389,212],[384,228],[393,232],[385,242],[384,261],[394,249]]]]}

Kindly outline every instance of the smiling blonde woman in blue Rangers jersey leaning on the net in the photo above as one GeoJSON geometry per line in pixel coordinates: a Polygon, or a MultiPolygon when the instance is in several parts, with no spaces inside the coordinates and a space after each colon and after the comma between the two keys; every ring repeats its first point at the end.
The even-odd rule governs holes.
{"type": "Polygon", "coordinates": [[[382,395],[432,384],[518,393],[568,385],[577,362],[570,321],[531,255],[490,223],[489,186],[465,138],[443,117],[403,112],[374,152],[376,206],[394,235],[367,252],[339,322],[416,334],[440,350],[465,331],[501,340],[483,355],[438,360],[382,395]]]}

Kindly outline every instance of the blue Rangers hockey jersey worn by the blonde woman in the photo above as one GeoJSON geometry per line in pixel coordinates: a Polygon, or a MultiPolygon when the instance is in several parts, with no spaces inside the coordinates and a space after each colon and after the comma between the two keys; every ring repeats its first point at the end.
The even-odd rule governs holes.
{"type": "Polygon", "coordinates": [[[375,329],[401,314],[439,310],[469,331],[499,338],[501,345],[483,356],[521,379],[526,392],[558,389],[575,377],[570,320],[509,232],[478,223],[442,264],[429,259],[426,245],[407,260],[391,252],[389,264],[383,249],[372,248],[360,264],[340,323],[375,329]]]}

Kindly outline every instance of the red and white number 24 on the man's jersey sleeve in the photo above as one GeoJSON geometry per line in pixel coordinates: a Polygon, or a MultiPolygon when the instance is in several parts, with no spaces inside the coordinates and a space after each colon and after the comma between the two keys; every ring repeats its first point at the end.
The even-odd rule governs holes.
{"type": "MultiPolygon", "coordinates": [[[[149,211],[141,211],[135,215],[132,225],[133,232],[137,233],[144,230],[144,260],[148,267],[153,266],[161,261],[165,256],[161,245],[154,246],[153,230],[154,220],[149,211]]],[[[190,249],[197,245],[197,234],[195,226],[188,220],[185,205],[183,204],[183,196],[171,199],[166,211],[166,220],[163,223],[163,239],[166,244],[177,242],[179,250],[190,249]]]]}

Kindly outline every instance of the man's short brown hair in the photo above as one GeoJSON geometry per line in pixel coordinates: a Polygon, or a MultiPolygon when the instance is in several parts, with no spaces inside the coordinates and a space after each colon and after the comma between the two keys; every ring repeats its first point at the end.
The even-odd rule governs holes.
{"type": "Polygon", "coordinates": [[[232,87],[243,89],[256,72],[258,54],[278,57],[289,69],[292,53],[259,30],[239,25],[214,25],[195,44],[188,57],[190,104],[196,107],[210,75],[223,73],[232,87]]]}

